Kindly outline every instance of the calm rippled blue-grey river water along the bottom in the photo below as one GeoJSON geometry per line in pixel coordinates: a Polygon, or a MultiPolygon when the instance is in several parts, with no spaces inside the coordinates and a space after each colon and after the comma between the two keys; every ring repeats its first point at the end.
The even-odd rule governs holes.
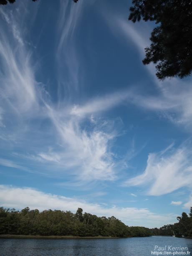
{"type": "Polygon", "coordinates": [[[192,239],[174,238],[169,236],[110,239],[0,238],[0,256],[158,255],[157,253],[152,254],[154,251],[159,253],[162,252],[162,254],[159,255],[192,255],[192,239]],[[158,248],[156,247],[156,250],[155,246],[158,246],[158,248]],[[164,251],[166,253],[164,253],[164,251]],[[169,252],[169,254],[167,254],[167,252],[169,252]]]}

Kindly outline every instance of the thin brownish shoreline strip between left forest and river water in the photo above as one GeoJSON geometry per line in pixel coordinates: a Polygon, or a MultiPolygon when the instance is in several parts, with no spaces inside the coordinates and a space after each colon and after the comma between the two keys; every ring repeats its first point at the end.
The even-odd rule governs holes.
{"type": "Polygon", "coordinates": [[[107,238],[130,238],[114,236],[30,236],[30,235],[0,235],[0,238],[46,238],[46,239],[107,239],[107,238]]]}

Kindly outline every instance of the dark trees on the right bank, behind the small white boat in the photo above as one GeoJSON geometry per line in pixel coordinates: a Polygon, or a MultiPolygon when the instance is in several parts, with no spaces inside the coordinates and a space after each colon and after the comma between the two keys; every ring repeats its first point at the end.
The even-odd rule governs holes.
{"type": "Polygon", "coordinates": [[[161,228],[152,228],[152,235],[155,236],[175,236],[192,237],[192,207],[189,215],[182,213],[181,217],[177,217],[178,222],[173,225],[164,225],[161,228]]]}

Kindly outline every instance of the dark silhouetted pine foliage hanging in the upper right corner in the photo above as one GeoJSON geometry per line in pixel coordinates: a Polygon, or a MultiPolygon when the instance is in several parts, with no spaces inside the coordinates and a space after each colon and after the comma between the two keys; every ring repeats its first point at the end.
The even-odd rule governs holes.
{"type": "Polygon", "coordinates": [[[179,76],[192,72],[192,1],[132,0],[129,20],[151,20],[158,24],[145,48],[144,64],[157,64],[157,77],[179,76]]]}

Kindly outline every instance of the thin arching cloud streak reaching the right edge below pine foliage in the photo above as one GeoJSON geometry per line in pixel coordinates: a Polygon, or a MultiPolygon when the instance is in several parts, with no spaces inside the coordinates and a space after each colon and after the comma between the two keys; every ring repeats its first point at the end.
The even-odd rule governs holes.
{"type": "Polygon", "coordinates": [[[139,87],[119,91],[93,98],[83,106],[74,105],[71,114],[85,117],[87,115],[108,111],[120,104],[133,104],[140,109],[147,109],[159,114],[176,125],[186,129],[192,127],[192,89],[190,84],[174,85],[165,84],[163,89],[158,89],[157,95],[140,93],[139,87]]]}

